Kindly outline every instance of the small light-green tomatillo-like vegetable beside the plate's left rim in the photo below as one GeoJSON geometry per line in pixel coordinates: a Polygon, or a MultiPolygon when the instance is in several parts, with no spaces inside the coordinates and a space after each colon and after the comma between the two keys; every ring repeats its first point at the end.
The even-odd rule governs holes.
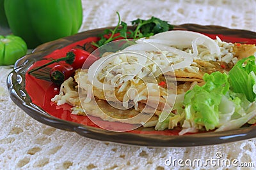
{"type": "Polygon", "coordinates": [[[26,55],[27,51],[26,42],[19,36],[0,35],[0,66],[14,64],[17,59],[26,55]]]}

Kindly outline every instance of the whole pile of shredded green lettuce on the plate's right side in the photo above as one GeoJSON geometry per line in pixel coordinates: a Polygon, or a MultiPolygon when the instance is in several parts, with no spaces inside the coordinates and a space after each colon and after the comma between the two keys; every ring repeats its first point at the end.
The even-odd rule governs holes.
{"type": "MultiPolygon", "coordinates": [[[[177,97],[170,113],[156,129],[173,129],[180,125],[179,134],[206,131],[227,131],[244,124],[256,123],[256,63],[250,56],[240,60],[229,74],[204,74],[205,84],[195,85],[186,94],[177,97]]],[[[161,115],[160,115],[161,117],[161,115]]]]}

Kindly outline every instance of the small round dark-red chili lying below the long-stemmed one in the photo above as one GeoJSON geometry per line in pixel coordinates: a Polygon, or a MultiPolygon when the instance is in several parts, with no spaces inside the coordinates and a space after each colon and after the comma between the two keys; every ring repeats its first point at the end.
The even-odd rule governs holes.
{"type": "Polygon", "coordinates": [[[49,74],[51,81],[54,84],[61,85],[61,83],[67,80],[70,76],[74,76],[75,70],[70,64],[63,63],[52,67],[49,74]]]}

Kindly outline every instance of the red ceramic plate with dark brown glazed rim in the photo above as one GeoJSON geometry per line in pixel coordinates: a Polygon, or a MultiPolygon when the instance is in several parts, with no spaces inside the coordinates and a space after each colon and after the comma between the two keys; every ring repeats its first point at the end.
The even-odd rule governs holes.
{"type": "MultiPolygon", "coordinates": [[[[153,128],[138,128],[129,132],[113,132],[101,129],[88,117],[70,114],[71,106],[56,106],[51,98],[58,94],[59,88],[49,81],[49,70],[43,69],[34,75],[28,74],[31,67],[40,66],[49,59],[65,56],[74,46],[90,52],[94,49],[91,41],[97,41],[97,34],[106,28],[81,32],[56,41],[38,46],[32,53],[15,63],[9,74],[7,84],[10,97],[29,116],[43,124],[58,129],[74,131],[86,138],[140,146],[200,146],[228,143],[256,137],[256,125],[223,132],[202,132],[179,136],[179,130],[154,131],[153,128]],[[58,88],[58,89],[56,89],[58,88]]],[[[131,28],[132,29],[132,28],[131,28]]],[[[175,29],[201,32],[211,38],[219,36],[223,41],[232,43],[256,44],[256,32],[228,29],[215,25],[184,24],[175,25],[175,29]]],[[[115,124],[115,123],[114,123],[115,124]]]]}

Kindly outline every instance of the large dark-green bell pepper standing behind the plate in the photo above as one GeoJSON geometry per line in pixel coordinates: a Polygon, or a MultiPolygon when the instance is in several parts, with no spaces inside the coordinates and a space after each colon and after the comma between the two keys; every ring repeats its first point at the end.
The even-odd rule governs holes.
{"type": "Polygon", "coordinates": [[[81,0],[4,0],[13,34],[29,48],[76,34],[83,22],[81,0]]]}

